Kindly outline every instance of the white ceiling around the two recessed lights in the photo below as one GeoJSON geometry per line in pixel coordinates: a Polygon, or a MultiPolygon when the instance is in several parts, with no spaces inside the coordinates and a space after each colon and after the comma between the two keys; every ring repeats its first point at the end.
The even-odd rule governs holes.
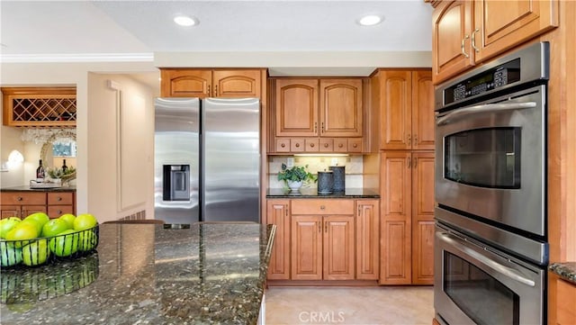
{"type": "Polygon", "coordinates": [[[233,67],[238,52],[398,56],[431,50],[431,15],[424,0],[0,0],[0,60],[153,61],[155,53],[217,52],[233,67]],[[175,14],[200,24],[177,26],[175,14]],[[363,14],[383,15],[383,23],[360,26],[363,14]]]}

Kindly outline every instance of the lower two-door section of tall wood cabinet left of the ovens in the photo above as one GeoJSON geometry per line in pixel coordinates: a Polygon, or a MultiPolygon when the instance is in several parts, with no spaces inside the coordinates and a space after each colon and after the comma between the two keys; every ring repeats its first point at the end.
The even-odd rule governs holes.
{"type": "Polygon", "coordinates": [[[380,284],[434,282],[434,152],[381,154],[380,284]]]}

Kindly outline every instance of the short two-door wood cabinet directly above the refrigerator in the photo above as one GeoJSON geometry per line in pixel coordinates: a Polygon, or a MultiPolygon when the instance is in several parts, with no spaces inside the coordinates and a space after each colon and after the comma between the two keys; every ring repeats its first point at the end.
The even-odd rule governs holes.
{"type": "Polygon", "coordinates": [[[161,68],[163,97],[258,97],[262,69],[161,68]]]}

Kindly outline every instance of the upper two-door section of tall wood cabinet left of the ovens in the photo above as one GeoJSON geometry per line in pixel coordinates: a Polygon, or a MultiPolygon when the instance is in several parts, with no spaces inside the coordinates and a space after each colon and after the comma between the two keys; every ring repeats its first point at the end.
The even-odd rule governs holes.
{"type": "Polygon", "coordinates": [[[379,70],[380,149],[434,149],[430,70],[379,70]]]}

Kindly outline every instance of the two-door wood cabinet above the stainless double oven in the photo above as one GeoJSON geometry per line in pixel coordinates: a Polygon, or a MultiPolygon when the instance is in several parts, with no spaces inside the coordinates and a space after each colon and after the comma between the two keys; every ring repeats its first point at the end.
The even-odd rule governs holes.
{"type": "Polygon", "coordinates": [[[432,15],[434,84],[558,26],[558,0],[439,2],[432,15]]]}

